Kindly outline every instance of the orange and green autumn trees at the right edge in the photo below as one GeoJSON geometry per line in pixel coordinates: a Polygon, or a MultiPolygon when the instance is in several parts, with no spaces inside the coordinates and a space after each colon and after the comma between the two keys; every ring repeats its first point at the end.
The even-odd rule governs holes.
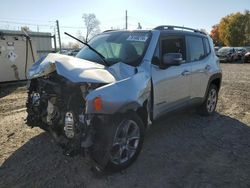
{"type": "Polygon", "coordinates": [[[232,13],[212,27],[215,46],[250,46],[250,12],[232,13]]]}

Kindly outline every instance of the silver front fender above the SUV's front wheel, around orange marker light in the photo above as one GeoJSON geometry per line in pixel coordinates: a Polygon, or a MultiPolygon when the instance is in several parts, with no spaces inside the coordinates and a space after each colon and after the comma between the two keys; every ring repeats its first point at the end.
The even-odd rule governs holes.
{"type": "Polygon", "coordinates": [[[86,114],[114,114],[143,106],[150,96],[150,76],[144,71],[126,79],[105,85],[86,96],[86,114]],[[96,111],[93,101],[96,97],[102,100],[102,108],[96,111]]]}

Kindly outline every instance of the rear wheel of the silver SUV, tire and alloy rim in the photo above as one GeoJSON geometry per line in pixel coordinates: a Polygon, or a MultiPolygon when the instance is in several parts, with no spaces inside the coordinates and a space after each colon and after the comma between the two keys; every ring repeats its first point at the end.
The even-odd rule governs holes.
{"type": "Polygon", "coordinates": [[[218,101],[218,88],[216,85],[209,86],[207,96],[202,105],[197,109],[198,113],[203,116],[209,116],[214,113],[218,101]]]}

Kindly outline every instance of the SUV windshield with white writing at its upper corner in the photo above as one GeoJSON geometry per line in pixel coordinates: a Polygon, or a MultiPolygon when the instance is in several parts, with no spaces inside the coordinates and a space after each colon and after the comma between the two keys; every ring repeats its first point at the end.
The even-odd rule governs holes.
{"type": "MultiPolygon", "coordinates": [[[[105,57],[108,65],[123,62],[138,66],[149,43],[150,32],[109,32],[94,37],[88,43],[105,57]]],[[[87,46],[76,55],[81,59],[103,64],[101,57],[87,46]]]]}

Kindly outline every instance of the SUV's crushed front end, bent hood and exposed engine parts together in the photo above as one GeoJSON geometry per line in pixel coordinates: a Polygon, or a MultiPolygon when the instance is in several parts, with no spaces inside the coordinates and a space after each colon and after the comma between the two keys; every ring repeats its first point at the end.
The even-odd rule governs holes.
{"type": "Polygon", "coordinates": [[[35,63],[29,71],[27,125],[51,132],[66,154],[88,149],[94,133],[92,117],[85,114],[85,98],[91,91],[112,81],[103,68],[60,54],[49,54],[35,63]],[[93,74],[95,76],[90,79],[88,75],[93,74]]]}

